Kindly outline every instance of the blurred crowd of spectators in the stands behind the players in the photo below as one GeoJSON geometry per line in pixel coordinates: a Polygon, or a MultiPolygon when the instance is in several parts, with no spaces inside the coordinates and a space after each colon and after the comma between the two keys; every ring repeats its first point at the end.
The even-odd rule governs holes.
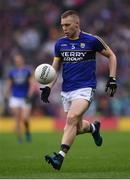
{"type": "MultiPolygon", "coordinates": [[[[130,1],[129,0],[1,0],[0,1],[0,114],[8,115],[5,101],[6,78],[12,68],[12,57],[21,52],[32,69],[41,63],[52,63],[54,43],[62,36],[60,14],[75,9],[86,32],[99,35],[118,59],[118,89],[114,98],[105,93],[108,78],[106,59],[97,59],[96,101],[90,111],[105,116],[130,115],[130,1]]],[[[33,112],[61,116],[59,77],[50,97],[43,104],[35,82],[33,112]]],[[[90,112],[90,113],[91,113],[90,112]]]]}

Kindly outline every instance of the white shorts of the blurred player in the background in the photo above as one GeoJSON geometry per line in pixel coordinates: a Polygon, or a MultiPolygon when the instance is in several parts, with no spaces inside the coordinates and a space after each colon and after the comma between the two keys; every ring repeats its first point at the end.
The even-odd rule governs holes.
{"type": "Polygon", "coordinates": [[[10,97],[9,99],[9,107],[10,108],[21,108],[21,109],[28,109],[31,108],[31,104],[25,101],[25,98],[18,98],[18,97],[10,97]]]}

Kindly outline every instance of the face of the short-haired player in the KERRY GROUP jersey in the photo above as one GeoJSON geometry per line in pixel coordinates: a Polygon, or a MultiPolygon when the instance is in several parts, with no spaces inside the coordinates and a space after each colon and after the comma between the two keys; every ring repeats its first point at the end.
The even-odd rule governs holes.
{"type": "Polygon", "coordinates": [[[65,36],[68,38],[76,38],[79,31],[79,22],[77,18],[67,16],[61,19],[61,26],[65,36]]]}

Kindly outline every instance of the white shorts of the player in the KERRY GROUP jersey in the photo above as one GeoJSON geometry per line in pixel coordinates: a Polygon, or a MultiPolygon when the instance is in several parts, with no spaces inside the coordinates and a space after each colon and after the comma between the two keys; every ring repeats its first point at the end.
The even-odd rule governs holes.
{"type": "Polygon", "coordinates": [[[95,89],[93,88],[81,88],[81,89],[77,89],[77,90],[69,91],[69,92],[62,91],[61,97],[62,97],[64,111],[68,112],[71,106],[71,102],[74,99],[85,99],[91,103],[93,100],[94,94],[95,94],[95,89]]]}

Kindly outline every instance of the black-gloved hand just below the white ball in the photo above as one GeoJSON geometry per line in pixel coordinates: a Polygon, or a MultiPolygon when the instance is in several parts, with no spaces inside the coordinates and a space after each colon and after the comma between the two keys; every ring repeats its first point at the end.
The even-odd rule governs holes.
{"type": "Polygon", "coordinates": [[[51,92],[51,88],[46,86],[44,88],[40,88],[41,92],[41,100],[45,103],[49,103],[48,97],[50,95],[51,92]]]}

